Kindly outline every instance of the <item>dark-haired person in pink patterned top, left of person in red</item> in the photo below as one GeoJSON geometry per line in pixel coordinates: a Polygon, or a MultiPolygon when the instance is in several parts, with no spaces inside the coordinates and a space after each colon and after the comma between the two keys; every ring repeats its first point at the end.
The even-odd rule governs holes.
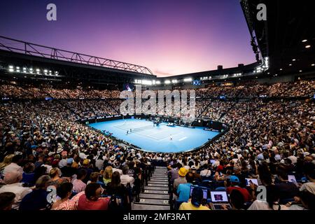
{"type": "Polygon", "coordinates": [[[72,194],[72,183],[61,183],[57,188],[57,195],[59,199],[52,204],[51,210],[76,210],[75,200],[69,200],[72,194]]]}

